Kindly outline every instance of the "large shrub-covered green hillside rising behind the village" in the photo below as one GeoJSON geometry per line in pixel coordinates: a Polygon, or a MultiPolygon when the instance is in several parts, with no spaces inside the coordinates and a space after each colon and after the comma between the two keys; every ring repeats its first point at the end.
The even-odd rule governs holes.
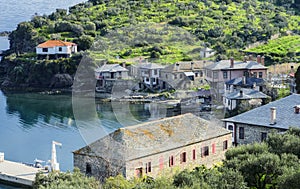
{"type": "Polygon", "coordinates": [[[69,12],[59,9],[20,23],[10,35],[11,52],[18,55],[34,51],[38,43],[56,38],[74,41],[81,50],[101,40],[108,44],[107,51],[102,53],[104,49],[98,45],[92,55],[112,61],[139,56],[163,62],[189,60],[197,58],[196,52],[203,46],[227,57],[239,57],[238,50],[248,44],[287,30],[298,33],[300,17],[294,15],[297,5],[278,0],[90,0],[70,7],[69,12]],[[168,43],[174,34],[168,25],[196,40],[191,44],[184,41],[189,40],[186,38],[168,43]],[[131,32],[134,29],[136,33],[131,32]],[[116,33],[118,39],[123,38],[118,42],[122,49],[110,43],[116,33]]]}

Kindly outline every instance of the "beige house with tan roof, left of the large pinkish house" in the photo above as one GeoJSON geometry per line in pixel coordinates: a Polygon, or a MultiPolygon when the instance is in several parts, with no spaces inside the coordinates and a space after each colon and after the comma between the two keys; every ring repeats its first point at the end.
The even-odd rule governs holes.
{"type": "Polygon", "coordinates": [[[207,61],[177,62],[161,69],[161,89],[190,89],[205,83],[203,68],[207,61]]]}

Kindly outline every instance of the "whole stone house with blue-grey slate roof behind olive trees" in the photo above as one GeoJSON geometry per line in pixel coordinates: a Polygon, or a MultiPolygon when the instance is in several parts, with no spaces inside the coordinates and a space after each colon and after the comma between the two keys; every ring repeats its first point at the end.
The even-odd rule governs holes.
{"type": "Polygon", "coordinates": [[[262,142],[272,130],[287,131],[300,127],[300,95],[292,94],[280,100],[223,119],[225,128],[232,131],[232,141],[237,144],[262,142]]]}

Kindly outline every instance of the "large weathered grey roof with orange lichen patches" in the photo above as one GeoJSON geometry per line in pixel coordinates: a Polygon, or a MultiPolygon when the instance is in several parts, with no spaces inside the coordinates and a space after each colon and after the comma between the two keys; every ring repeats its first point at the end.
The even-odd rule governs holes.
{"type": "Polygon", "coordinates": [[[74,154],[131,160],[229,133],[213,122],[188,113],[120,128],[74,154]]]}

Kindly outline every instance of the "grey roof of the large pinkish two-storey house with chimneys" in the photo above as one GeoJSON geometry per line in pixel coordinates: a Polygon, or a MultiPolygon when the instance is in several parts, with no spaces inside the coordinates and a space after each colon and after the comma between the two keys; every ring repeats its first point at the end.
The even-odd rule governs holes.
{"type": "Polygon", "coordinates": [[[211,70],[267,69],[267,67],[263,66],[262,64],[256,61],[246,61],[246,62],[234,61],[233,68],[230,68],[230,60],[221,60],[212,65],[206,66],[206,68],[211,70]]]}

